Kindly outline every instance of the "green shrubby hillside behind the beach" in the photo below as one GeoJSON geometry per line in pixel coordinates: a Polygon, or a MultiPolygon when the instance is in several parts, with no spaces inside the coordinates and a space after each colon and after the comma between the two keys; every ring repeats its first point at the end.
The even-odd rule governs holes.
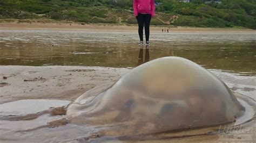
{"type": "MultiPolygon", "coordinates": [[[[221,3],[155,0],[152,25],[256,29],[255,0],[221,3]]],[[[0,19],[53,19],[81,23],[137,24],[131,0],[0,0],[0,19]]]]}

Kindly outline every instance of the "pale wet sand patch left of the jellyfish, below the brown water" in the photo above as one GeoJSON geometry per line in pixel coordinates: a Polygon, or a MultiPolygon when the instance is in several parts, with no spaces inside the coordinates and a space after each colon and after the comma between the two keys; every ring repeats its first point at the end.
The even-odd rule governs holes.
{"type": "Polygon", "coordinates": [[[98,85],[111,83],[129,69],[79,66],[0,66],[0,103],[18,99],[74,100],[98,85]]]}

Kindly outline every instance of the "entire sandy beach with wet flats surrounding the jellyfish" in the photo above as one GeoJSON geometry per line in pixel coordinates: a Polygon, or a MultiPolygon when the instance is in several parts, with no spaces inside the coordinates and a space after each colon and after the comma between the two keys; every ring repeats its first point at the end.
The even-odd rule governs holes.
{"type": "MultiPolygon", "coordinates": [[[[255,30],[240,28],[170,27],[170,35],[163,35],[160,33],[162,28],[167,27],[151,27],[151,30],[154,32],[152,33],[154,34],[155,43],[161,41],[163,38],[170,38],[170,41],[155,44],[159,47],[154,47],[154,44],[152,44],[153,46],[151,46],[150,52],[148,51],[151,53],[150,60],[158,58],[161,53],[163,53],[161,56],[174,55],[190,59],[203,67],[206,66],[205,68],[223,80],[233,92],[246,95],[253,104],[255,103],[256,77],[254,74],[253,58],[256,55],[254,55],[251,49],[247,48],[246,50],[248,51],[242,51],[239,46],[235,49],[228,49],[229,46],[226,45],[226,42],[231,40],[237,41],[242,39],[244,41],[253,41],[255,30]],[[175,33],[175,35],[171,32],[175,33]],[[203,34],[204,32],[208,33],[207,37],[203,34]],[[186,36],[180,33],[185,33],[184,35],[186,36]],[[188,33],[192,34],[190,35],[188,33]],[[231,34],[225,35],[224,33],[231,34]],[[235,35],[237,33],[241,33],[239,35],[240,37],[235,35]],[[223,34],[224,37],[221,37],[223,34]],[[178,38],[175,39],[175,37],[178,38]],[[234,37],[238,38],[234,39],[234,37]],[[192,48],[191,51],[193,53],[189,52],[189,48],[193,46],[192,43],[195,39],[198,41],[213,41],[213,44],[208,44],[207,42],[206,44],[201,44],[199,42],[199,45],[202,46],[194,45],[197,51],[192,48]],[[226,40],[222,41],[221,39],[226,40]],[[223,44],[220,46],[217,45],[216,47],[208,47],[209,51],[205,48],[208,45],[214,45],[216,43],[223,44]],[[169,47],[170,44],[174,45],[169,47]],[[176,47],[177,45],[181,45],[181,47],[176,47]],[[163,48],[164,46],[165,48],[163,48]],[[158,52],[161,48],[163,48],[163,51],[158,52]],[[176,50],[174,51],[173,48],[176,48],[176,50]],[[210,51],[210,49],[216,50],[210,51]],[[200,53],[201,51],[207,51],[207,54],[200,53]],[[232,55],[232,52],[237,53],[232,55]],[[184,55],[177,53],[184,53],[184,55]],[[220,54],[223,56],[219,56],[220,54]],[[228,54],[231,55],[228,56],[228,54]],[[244,57],[245,54],[246,56],[244,57]],[[194,57],[190,55],[194,55],[194,57]],[[205,59],[197,60],[198,55],[200,57],[204,56],[205,59]],[[241,66],[239,65],[239,61],[241,61],[241,66]],[[226,69],[226,67],[228,68],[226,69]]],[[[133,43],[135,38],[132,38],[134,34],[137,35],[136,25],[82,25],[78,23],[30,24],[15,22],[0,23],[0,30],[3,30],[2,40],[0,41],[0,45],[2,44],[0,49],[3,52],[1,59],[3,60],[2,66],[0,66],[0,104],[7,104],[5,107],[8,109],[8,103],[23,101],[24,103],[28,102],[31,104],[32,100],[35,100],[32,102],[38,102],[35,105],[37,108],[33,110],[29,109],[26,111],[23,103],[17,104],[17,106],[20,106],[19,108],[9,108],[14,115],[10,114],[2,118],[3,115],[0,114],[0,118],[3,119],[0,120],[0,142],[34,142],[35,138],[37,138],[38,142],[76,142],[78,137],[83,137],[84,134],[90,133],[90,128],[81,129],[83,127],[68,124],[68,121],[65,119],[65,113],[58,116],[51,116],[52,110],[54,111],[55,108],[58,109],[59,106],[62,106],[60,110],[64,110],[65,106],[75,101],[84,92],[100,85],[114,83],[132,69],[129,67],[136,67],[139,63],[144,62],[143,56],[140,59],[141,51],[139,48],[136,46],[131,48],[131,45],[135,45],[133,43]],[[55,31],[55,33],[52,31],[55,31]],[[79,33],[78,31],[82,32],[79,33]],[[103,40],[103,42],[98,44],[99,39],[101,39],[100,36],[104,37],[105,41],[103,40]],[[113,40],[116,37],[119,37],[119,41],[113,40]],[[127,42],[126,39],[130,41],[127,42]],[[119,45],[109,42],[111,40],[118,42],[119,45]],[[79,47],[75,48],[76,46],[79,47]],[[71,51],[78,51],[80,54],[73,54],[71,51]],[[59,59],[56,59],[58,57],[59,59]],[[77,66],[80,63],[81,66],[77,66]],[[52,102],[52,104],[45,106],[49,102],[52,102]],[[51,113],[45,113],[45,109],[51,110],[51,113]],[[42,111],[43,113],[38,114],[38,111],[42,111]],[[15,117],[23,112],[29,112],[32,115],[15,117]],[[28,132],[18,132],[21,130],[28,130],[28,132]]],[[[247,43],[245,42],[245,44],[247,43]]],[[[248,45],[235,43],[234,45],[253,47],[253,43],[249,43],[248,45]]],[[[1,110],[5,112],[6,109],[1,110]]],[[[218,130],[218,127],[216,130],[218,130]]],[[[166,135],[162,134],[163,138],[151,140],[151,142],[255,142],[256,118],[254,116],[250,121],[235,128],[225,126],[225,130],[221,131],[223,132],[213,131],[212,134],[201,134],[182,138],[169,138],[170,134],[167,133],[166,135]]],[[[192,130],[192,132],[197,131],[192,130]]],[[[118,142],[119,140],[114,141],[118,142]]],[[[109,142],[113,142],[113,140],[109,142]]],[[[142,142],[149,142],[149,140],[142,140],[142,142]]]]}

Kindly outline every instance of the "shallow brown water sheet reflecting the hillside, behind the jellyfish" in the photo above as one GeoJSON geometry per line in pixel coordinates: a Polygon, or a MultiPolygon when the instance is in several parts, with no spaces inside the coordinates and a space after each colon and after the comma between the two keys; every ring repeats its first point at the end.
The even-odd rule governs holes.
{"type": "MultiPolygon", "coordinates": [[[[0,65],[136,67],[136,38],[132,32],[5,30],[0,65]]],[[[207,69],[256,75],[255,33],[152,33],[151,40],[151,60],[174,55],[207,69]]]]}

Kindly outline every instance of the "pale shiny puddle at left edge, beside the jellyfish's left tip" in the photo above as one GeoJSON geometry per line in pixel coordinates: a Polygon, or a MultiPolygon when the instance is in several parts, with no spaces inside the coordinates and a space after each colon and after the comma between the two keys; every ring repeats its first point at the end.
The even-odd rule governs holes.
{"type": "Polygon", "coordinates": [[[69,103],[52,99],[24,99],[0,104],[0,131],[14,133],[47,126],[51,121],[65,118],[65,113],[52,116],[52,111],[56,113],[65,109],[69,103]]]}

